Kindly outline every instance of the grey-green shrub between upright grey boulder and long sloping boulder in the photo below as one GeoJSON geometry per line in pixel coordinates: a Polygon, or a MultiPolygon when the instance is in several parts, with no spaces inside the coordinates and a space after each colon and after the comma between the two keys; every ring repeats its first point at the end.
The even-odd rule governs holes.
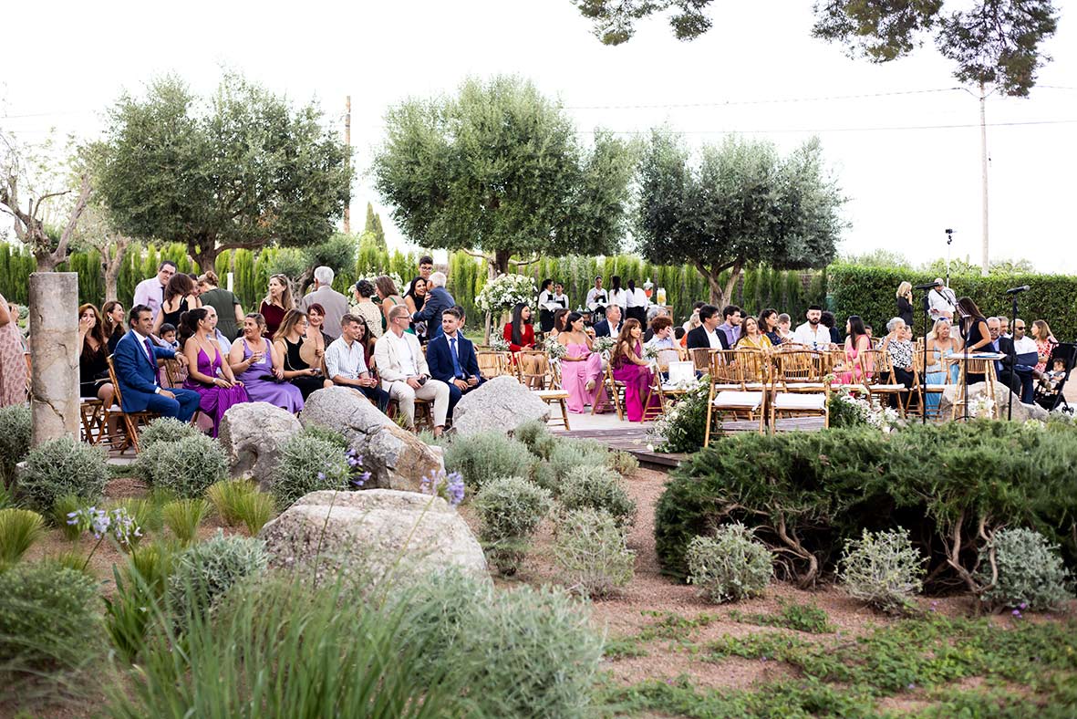
{"type": "Polygon", "coordinates": [[[277,507],[288,509],[319,489],[350,489],[347,450],[347,444],[340,447],[314,434],[299,433],[285,442],[270,486],[277,507]]]}

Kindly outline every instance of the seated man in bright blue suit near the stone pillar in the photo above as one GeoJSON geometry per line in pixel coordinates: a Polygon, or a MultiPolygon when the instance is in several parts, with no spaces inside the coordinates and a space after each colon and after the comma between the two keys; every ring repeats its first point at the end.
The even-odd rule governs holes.
{"type": "Polygon", "coordinates": [[[129,315],[130,331],[120,338],[112,352],[112,363],[120,383],[124,412],[156,412],[163,417],[191,421],[201,396],[191,389],[165,389],[157,383],[157,360],[177,359],[186,364],[183,355],[170,347],[159,347],[150,340],[153,332],[153,310],[135,305],[129,315]]]}

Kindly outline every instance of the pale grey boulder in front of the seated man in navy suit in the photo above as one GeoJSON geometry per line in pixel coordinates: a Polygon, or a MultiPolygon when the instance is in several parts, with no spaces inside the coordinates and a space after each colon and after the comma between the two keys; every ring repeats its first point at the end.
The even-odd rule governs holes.
{"type": "Polygon", "coordinates": [[[490,430],[507,434],[532,419],[549,419],[549,405],[516,377],[502,375],[460,399],[452,411],[452,431],[460,435],[490,430]]]}

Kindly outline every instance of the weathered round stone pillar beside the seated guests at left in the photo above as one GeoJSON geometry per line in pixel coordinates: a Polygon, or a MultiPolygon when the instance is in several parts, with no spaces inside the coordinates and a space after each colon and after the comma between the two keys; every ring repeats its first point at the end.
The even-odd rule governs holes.
{"type": "Polygon", "coordinates": [[[30,275],[32,444],[79,438],[79,275],[30,275]]]}

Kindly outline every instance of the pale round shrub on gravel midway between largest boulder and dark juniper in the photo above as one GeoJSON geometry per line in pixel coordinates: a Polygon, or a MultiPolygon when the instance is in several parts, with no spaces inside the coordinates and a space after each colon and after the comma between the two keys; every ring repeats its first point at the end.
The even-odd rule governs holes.
{"type": "Polygon", "coordinates": [[[554,561],[571,591],[605,597],[632,580],[635,552],[612,514],[588,508],[558,520],[554,561]]]}

